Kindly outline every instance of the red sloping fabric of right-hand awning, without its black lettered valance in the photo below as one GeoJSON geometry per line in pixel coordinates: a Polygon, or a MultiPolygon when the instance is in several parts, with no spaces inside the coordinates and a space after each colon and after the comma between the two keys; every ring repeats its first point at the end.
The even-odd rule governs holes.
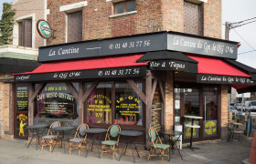
{"type": "Polygon", "coordinates": [[[188,57],[197,60],[198,74],[213,74],[233,77],[251,77],[242,72],[240,69],[231,66],[229,63],[219,59],[205,56],[190,56],[188,57]]]}

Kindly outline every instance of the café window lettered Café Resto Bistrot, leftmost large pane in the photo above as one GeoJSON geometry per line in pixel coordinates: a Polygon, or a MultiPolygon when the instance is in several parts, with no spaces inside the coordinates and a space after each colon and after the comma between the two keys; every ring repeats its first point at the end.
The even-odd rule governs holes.
{"type": "Polygon", "coordinates": [[[34,114],[34,124],[59,120],[71,125],[79,117],[79,106],[64,83],[47,84],[37,95],[34,114]]]}

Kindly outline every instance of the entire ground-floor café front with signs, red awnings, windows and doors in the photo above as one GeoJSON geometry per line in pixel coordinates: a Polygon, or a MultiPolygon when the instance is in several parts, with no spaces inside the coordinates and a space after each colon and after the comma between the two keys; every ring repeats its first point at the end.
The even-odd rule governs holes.
{"type": "Polygon", "coordinates": [[[227,138],[229,88],[255,86],[256,70],[236,61],[238,43],[177,32],[43,46],[32,72],[15,74],[18,136],[24,124],[87,123],[144,132],[183,128],[200,116],[195,141],[227,138]],[[21,122],[21,120],[23,120],[21,122]]]}

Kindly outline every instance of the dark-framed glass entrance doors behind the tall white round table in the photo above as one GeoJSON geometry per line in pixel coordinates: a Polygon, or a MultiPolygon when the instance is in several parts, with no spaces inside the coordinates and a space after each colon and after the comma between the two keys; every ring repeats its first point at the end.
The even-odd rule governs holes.
{"type": "Polygon", "coordinates": [[[191,129],[185,124],[191,124],[191,118],[185,115],[199,116],[194,125],[200,128],[193,129],[195,140],[218,138],[218,88],[217,87],[180,87],[175,88],[175,120],[176,124],[184,127],[184,139],[188,140],[191,129]],[[180,119],[179,119],[180,117],[180,119]]]}

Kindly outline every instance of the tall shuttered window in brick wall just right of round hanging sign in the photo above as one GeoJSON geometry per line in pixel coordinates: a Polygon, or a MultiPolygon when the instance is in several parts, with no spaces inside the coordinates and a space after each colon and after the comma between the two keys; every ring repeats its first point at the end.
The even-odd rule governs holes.
{"type": "Polygon", "coordinates": [[[68,43],[82,40],[82,12],[68,14],[68,43]]]}

